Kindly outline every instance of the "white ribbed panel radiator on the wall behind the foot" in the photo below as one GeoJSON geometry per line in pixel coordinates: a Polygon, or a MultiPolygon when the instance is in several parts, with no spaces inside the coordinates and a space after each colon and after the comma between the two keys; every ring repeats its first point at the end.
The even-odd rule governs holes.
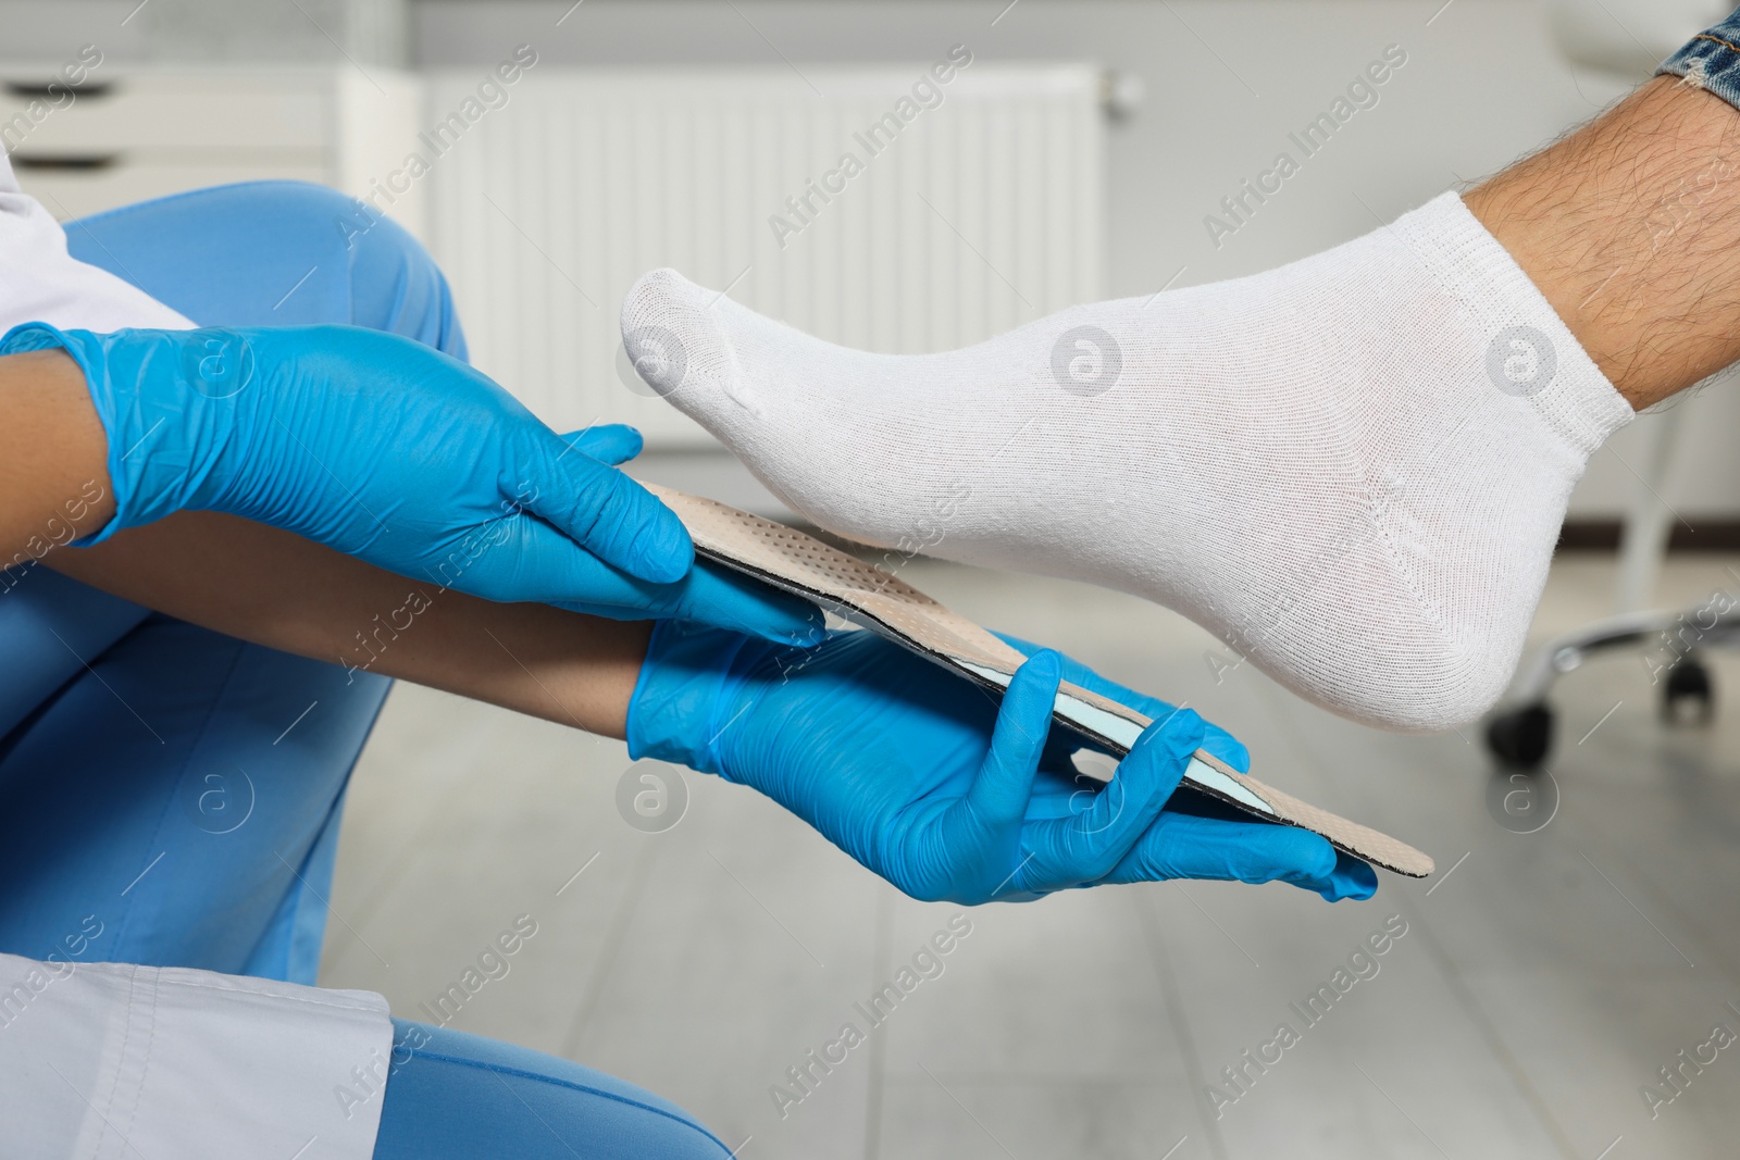
{"type": "MultiPolygon", "coordinates": [[[[559,430],[705,445],[623,383],[618,311],[656,266],[875,351],[1100,297],[1100,73],[971,64],[936,83],[931,68],[527,71],[421,179],[475,363],[559,430]]],[[[432,75],[430,123],[477,83],[432,75]]]]}

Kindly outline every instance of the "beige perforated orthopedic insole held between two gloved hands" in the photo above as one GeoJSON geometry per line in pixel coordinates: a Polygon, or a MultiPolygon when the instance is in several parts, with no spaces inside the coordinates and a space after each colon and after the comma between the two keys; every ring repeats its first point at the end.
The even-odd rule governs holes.
{"type": "MultiPolygon", "coordinates": [[[[990,689],[1007,689],[1027,659],[987,630],[950,612],[922,591],[813,536],[722,503],[646,485],[677,513],[701,557],[795,593],[990,689]]],[[[1152,718],[1068,682],[1053,717],[1117,757],[1129,753],[1152,718]]],[[[1093,776],[1093,774],[1089,774],[1093,776]]],[[[1241,774],[1197,750],[1185,783],[1263,821],[1300,826],[1338,850],[1409,878],[1432,873],[1432,859],[1406,842],[1347,821],[1241,774]]]]}

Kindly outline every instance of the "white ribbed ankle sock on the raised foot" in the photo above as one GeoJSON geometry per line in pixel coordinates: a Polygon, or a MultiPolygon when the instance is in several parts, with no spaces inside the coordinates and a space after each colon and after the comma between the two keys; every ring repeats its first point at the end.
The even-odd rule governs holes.
{"type": "Polygon", "coordinates": [[[940,355],[833,346],[670,270],[623,334],[820,527],[1148,597],[1394,729],[1498,699],[1571,485],[1632,417],[1453,193],[1265,275],[940,355]]]}

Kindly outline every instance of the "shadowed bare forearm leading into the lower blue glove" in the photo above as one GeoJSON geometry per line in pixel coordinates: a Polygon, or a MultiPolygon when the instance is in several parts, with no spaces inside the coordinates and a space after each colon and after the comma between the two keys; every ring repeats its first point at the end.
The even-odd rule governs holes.
{"type": "Polygon", "coordinates": [[[291,532],[184,511],[56,570],[214,631],[621,737],[649,624],[492,603],[291,532]]]}

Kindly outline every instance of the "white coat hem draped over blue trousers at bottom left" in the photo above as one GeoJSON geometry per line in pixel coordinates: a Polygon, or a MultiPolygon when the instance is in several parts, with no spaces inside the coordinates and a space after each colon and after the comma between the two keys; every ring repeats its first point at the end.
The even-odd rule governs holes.
{"type": "Polygon", "coordinates": [[[386,1000],[0,955],[0,1151],[37,1160],[369,1160],[386,1000]]]}

